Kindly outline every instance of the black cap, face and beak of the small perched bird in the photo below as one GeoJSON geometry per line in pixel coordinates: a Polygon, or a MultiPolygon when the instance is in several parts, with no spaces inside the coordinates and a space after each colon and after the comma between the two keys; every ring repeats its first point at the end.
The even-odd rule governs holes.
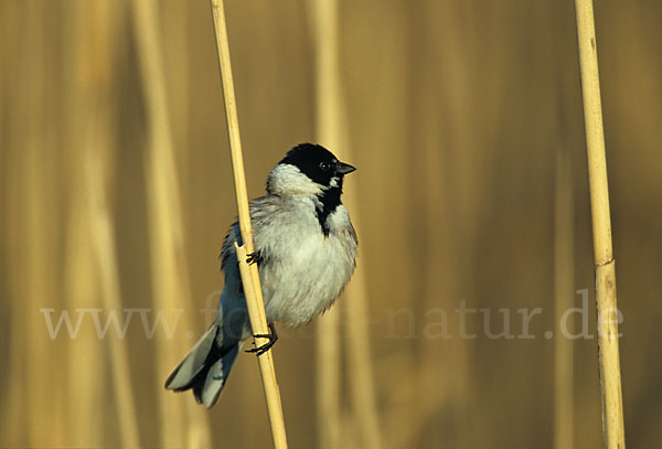
{"type": "Polygon", "coordinates": [[[314,143],[300,143],[288,151],[280,163],[297,167],[310,180],[323,186],[330,186],[333,178],[342,185],[342,177],[356,170],[343,163],[324,147],[314,143]]]}

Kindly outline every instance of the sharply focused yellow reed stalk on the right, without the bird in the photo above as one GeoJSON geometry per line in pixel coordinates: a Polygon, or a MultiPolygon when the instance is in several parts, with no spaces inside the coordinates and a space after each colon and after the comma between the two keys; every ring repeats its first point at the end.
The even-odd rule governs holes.
{"type": "Polygon", "coordinates": [[[600,78],[592,0],[575,0],[577,41],[584,99],[584,126],[588,154],[588,180],[598,307],[598,353],[602,395],[605,447],[624,449],[623,406],[618,349],[616,269],[611,247],[611,223],[607,160],[602,129],[600,78]]]}

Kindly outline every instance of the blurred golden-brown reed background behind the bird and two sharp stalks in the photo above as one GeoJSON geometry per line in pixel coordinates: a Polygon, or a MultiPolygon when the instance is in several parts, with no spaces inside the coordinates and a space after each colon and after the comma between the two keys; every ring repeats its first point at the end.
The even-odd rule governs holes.
{"type": "MultiPolygon", "coordinates": [[[[226,3],[252,196],[301,141],[359,168],[356,285],[275,346],[290,446],[600,447],[595,339],[544,338],[580,289],[595,333],[573,2],[341,1],[331,31],[324,4],[226,3]],[[490,339],[481,313],[463,339],[461,301],[515,335],[541,308],[535,338],[490,339]]],[[[627,439],[653,448],[662,3],[596,14],[627,439]]],[[[268,447],[252,356],[210,411],[162,388],[211,320],[236,211],[209,2],[4,0],[0,67],[0,446],[268,447]],[[51,339],[49,313],[77,309],[51,339]],[[95,309],[131,316],[126,336],[99,339],[95,309]],[[143,329],[158,312],[172,335],[143,329]]]]}

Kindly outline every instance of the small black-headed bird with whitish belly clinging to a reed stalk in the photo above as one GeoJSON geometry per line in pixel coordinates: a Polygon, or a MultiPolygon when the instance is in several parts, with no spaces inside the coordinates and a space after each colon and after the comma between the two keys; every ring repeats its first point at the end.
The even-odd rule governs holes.
{"type": "Polygon", "coordinates": [[[300,327],[324,312],[343,291],[356,267],[356,232],[341,195],[344,177],[356,169],[317,143],[289,150],[267,177],[267,193],[249,203],[256,263],[269,334],[253,335],[235,243],[243,245],[235,222],[223,243],[225,285],[216,317],[172,371],[166,388],[193,391],[211,408],[225,386],[243,343],[250,336],[268,342],[246,352],[261,355],[278,335],[275,322],[300,327]]]}

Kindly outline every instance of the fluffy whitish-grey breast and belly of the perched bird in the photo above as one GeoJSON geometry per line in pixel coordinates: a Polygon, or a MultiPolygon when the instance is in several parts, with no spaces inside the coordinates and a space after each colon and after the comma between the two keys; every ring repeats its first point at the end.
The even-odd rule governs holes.
{"type": "Polygon", "coordinates": [[[256,247],[273,257],[260,267],[269,321],[303,324],[329,308],[354,270],[356,242],[348,211],[329,215],[329,236],[321,232],[310,199],[300,199],[256,233],[256,247]],[[277,225],[276,225],[277,224],[277,225]]]}

